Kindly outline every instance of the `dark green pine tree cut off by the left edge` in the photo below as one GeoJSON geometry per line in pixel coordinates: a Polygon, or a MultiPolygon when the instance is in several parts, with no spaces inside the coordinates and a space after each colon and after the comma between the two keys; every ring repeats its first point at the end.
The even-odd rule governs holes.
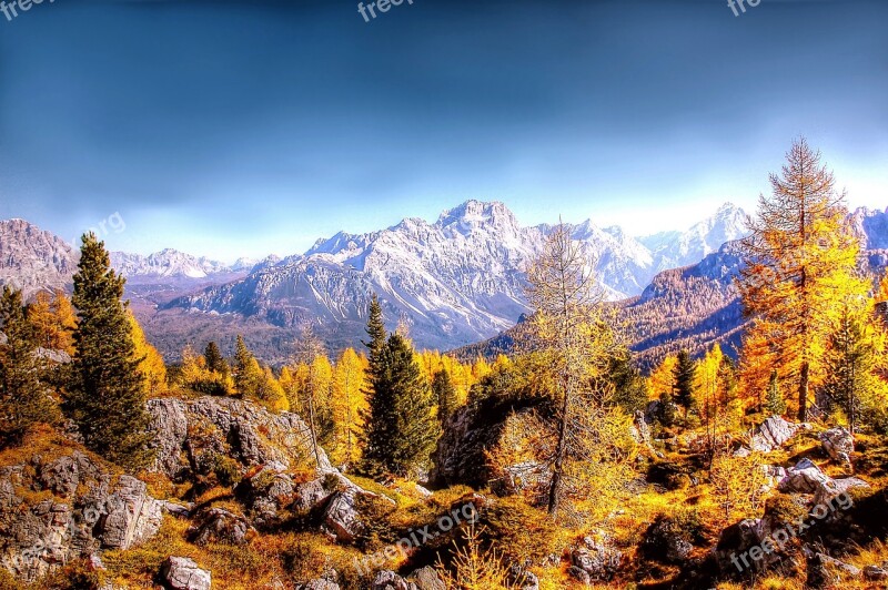
{"type": "Polygon", "coordinates": [[[34,330],[26,319],[21,292],[9,286],[0,298],[0,329],[7,337],[0,345],[0,447],[6,447],[20,442],[37,423],[53,424],[58,407],[39,379],[34,330]]]}

